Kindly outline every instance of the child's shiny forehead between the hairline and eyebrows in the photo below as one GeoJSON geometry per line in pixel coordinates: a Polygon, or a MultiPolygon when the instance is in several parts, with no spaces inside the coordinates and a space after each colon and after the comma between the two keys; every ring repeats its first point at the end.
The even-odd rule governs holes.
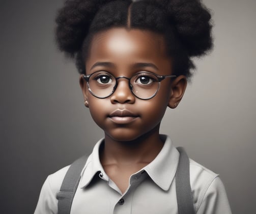
{"type": "Polygon", "coordinates": [[[165,58],[163,35],[150,30],[111,28],[93,36],[89,57],[165,58]]]}

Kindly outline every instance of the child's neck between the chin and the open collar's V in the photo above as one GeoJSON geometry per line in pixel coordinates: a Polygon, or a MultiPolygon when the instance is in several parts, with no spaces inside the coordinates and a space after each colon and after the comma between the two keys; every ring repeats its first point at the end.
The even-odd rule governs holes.
{"type": "Polygon", "coordinates": [[[163,147],[159,127],[132,141],[118,141],[105,135],[104,147],[100,152],[102,165],[149,164],[163,147]]]}

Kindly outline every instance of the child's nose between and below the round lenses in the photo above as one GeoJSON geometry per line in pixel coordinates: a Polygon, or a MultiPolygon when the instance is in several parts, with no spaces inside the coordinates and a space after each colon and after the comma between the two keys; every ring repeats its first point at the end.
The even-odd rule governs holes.
{"type": "Polygon", "coordinates": [[[116,90],[111,95],[110,100],[112,103],[134,103],[135,96],[129,87],[129,79],[126,77],[118,78],[116,90]],[[122,79],[121,79],[122,78],[122,79]]]}

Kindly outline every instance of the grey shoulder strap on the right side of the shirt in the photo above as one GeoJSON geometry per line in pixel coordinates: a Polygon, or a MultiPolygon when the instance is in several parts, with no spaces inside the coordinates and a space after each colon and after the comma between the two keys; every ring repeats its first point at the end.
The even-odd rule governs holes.
{"type": "Polygon", "coordinates": [[[176,195],[179,214],[194,214],[193,197],[190,187],[189,159],[183,147],[180,152],[179,165],[176,172],[176,195]]]}

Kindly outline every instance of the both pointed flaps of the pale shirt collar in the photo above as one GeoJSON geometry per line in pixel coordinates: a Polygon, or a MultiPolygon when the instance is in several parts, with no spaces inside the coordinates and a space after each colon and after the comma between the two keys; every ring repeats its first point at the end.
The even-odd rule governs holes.
{"type": "MultiPolygon", "coordinates": [[[[172,184],[179,163],[179,151],[174,147],[167,135],[160,135],[164,145],[157,157],[142,170],[145,170],[151,179],[161,189],[167,191],[172,184]]],[[[108,176],[100,163],[99,148],[104,139],[99,140],[94,146],[92,154],[81,172],[80,188],[88,186],[96,173],[101,172],[108,181],[108,176]]]]}

